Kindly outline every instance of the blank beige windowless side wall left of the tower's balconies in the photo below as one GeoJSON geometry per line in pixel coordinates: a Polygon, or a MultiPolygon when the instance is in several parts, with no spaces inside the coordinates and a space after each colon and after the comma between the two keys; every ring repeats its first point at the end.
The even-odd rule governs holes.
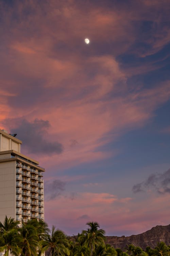
{"type": "Polygon", "coordinates": [[[0,163],[0,221],[16,219],[16,161],[0,163]]]}

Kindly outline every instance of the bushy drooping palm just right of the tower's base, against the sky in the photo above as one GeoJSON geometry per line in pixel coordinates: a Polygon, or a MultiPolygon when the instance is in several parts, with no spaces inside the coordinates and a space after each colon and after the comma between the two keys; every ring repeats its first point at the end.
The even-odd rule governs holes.
{"type": "Polygon", "coordinates": [[[42,242],[41,253],[45,251],[49,252],[49,256],[70,255],[69,241],[62,230],[52,227],[51,235],[48,234],[42,242]]]}

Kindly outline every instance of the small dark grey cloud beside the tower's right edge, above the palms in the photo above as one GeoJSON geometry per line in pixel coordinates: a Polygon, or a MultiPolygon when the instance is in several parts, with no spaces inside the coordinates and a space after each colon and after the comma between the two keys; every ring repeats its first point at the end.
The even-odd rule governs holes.
{"type": "Polygon", "coordinates": [[[54,200],[65,190],[66,183],[61,180],[45,181],[45,200],[54,200]]]}

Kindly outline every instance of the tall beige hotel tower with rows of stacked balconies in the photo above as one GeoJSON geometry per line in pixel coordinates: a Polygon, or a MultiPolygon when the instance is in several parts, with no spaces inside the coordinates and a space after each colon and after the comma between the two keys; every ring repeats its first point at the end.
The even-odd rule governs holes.
{"type": "Polygon", "coordinates": [[[0,221],[44,220],[44,168],[20,153],[22,141],[0,130],[0,221]]]}

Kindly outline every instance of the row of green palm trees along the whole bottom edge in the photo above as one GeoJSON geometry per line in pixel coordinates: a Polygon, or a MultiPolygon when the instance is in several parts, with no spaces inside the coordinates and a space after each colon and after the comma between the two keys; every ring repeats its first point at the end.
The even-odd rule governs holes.
{"type": "Polygon", "coordinates": [[[5,217],[0,222],[0,253],[4,256],[170,256],[170,246],[159,242],[155,248],[142,250],[129,244],[125,251],[105,243],[105,231],[97,222],[88,222],[87,230],[77,236],[67,237],[54,226],[37,219],[27,223],[5,217]]]}

